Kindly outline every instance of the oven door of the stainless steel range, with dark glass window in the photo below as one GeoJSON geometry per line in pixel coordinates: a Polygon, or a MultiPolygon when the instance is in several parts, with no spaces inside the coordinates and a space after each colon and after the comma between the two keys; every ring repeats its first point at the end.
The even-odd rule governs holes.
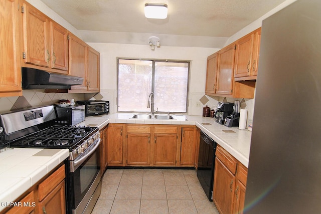
{"type": "Polygon", "coordinates": [[[72,213],[90,213],[100,195],[100,158],[99,143],[82,153],[74,161],[70,161],[69,202],[72,213]],[[84,155],[83,155],[84,154],[84,155]],[[92,207],[90,207],[92,205],[92,207]]]}

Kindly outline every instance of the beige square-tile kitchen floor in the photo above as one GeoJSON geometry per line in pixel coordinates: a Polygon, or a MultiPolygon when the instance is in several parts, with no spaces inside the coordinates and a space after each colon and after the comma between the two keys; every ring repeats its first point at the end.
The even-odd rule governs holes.
{"type": "Polygon", "coordinates": [[[92,213],[214,213],[192,169],[107,169],[92,213]]]}

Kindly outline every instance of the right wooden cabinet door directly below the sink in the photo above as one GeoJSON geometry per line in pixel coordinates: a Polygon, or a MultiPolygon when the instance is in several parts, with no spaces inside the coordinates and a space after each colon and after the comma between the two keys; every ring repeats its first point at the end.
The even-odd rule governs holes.
{"type": "Polygon", "coordinates": [[[175,165],[177,134],[154,134],[154,164],[175,165]]]}

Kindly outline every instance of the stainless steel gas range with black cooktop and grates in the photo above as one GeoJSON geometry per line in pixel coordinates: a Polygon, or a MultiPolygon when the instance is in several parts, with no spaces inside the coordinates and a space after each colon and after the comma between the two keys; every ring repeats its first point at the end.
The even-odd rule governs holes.
{"type": "Polygon", "coordinates": [[[1,147],[68,148],[67,213],[90,213],[100,195],[100,135],[96,127],[55,124],[53,105],[0,114],[1,147]]]}

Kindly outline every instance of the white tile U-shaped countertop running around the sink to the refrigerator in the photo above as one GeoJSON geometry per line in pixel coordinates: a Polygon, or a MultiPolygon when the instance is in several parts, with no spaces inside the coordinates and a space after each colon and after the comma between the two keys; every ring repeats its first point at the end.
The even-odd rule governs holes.
{"type": "Polygon", "coordinates": [[[174,115],[175,120],[129,119],[133,115],[133,113],[115,113],[86,117],[85,121],[78,125],[96,126],[99,129],[102,129],[108,123],[196,125],[243,165],[248,167],[252,134],[248,130],[240,130],[237,127],[228,128],[216,123],[215,119],[210,117],[174,115]],[[230,132],[226,132],[226,130],[230,132]]]}

